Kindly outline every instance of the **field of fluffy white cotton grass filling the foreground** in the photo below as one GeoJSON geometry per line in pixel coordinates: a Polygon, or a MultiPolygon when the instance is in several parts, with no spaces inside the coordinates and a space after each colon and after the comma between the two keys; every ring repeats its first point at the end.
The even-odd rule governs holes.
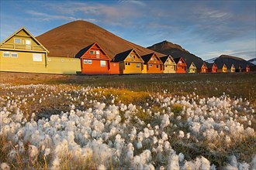
{"type": "Polygon", "coordinates": [[[243,97],[0,83],[1,169],[256,169],[243,97]]]}

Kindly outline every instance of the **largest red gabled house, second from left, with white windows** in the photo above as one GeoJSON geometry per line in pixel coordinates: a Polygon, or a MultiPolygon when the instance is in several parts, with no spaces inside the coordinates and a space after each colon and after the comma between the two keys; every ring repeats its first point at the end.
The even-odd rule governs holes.
{"type": "Polygon", "coordinates": [[[97,42],[81,49],[75,58],[81,59],[81,73],[109,74],[110,58],[97,42]]]}

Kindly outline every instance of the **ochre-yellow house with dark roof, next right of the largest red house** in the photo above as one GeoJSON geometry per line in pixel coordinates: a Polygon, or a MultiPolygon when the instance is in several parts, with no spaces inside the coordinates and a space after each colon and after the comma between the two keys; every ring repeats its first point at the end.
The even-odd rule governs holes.
{"type": "Polygon", "coordinates": [[[142,73],[144,66],[144,60],[135,49],[116,54],[111,62],[119,63],[120,74],[142,73]]]}

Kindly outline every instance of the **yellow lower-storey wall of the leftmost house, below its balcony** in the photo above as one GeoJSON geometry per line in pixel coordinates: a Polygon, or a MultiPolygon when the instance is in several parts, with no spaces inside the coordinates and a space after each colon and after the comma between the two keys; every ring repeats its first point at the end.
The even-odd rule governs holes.
{"type": "Polygon", "coordinates": [[[0,50],[0,71],[27,72],[27,73],[47,73],[46,65],[47,53],[20,52],[11,50],[0,50]],[[3,53],[9,53],[5,57],[3,53]],[[12,57],[16,53],[16,57],[12,57]]]}

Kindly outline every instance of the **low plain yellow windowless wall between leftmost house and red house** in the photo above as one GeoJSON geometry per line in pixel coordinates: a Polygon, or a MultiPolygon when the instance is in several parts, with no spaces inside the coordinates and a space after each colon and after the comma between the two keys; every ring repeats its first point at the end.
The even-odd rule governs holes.
{"type": "Polygon", "coordinates": [[[76,74],[81,72],[80,59],[67,57],[47,57],[47,73],[76,74]]]}

